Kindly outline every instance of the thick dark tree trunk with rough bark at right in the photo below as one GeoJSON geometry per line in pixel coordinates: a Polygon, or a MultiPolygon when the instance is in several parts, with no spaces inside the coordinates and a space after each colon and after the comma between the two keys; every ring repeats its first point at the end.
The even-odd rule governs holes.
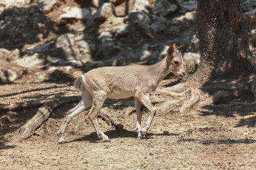
{"type": "Polygon", "coordinates": [[[205,83],[255,71],[255,54],[249,48],[255,35],[239,0],[198,0],[196,28],[201,64],[193,79],[205,83]]]}

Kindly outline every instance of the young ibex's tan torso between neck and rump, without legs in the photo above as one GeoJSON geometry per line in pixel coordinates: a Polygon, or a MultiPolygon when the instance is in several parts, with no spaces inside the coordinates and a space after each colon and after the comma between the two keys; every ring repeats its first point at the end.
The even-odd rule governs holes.
{"type": "Polygon", "coordinates": [[[103,90],[111,98],[134,96],[136,90],[152,89],[155,84],[150,78],[148,66],[132,65],[120,67],[100,67],[84,74],[88,90],[103,90]]]}

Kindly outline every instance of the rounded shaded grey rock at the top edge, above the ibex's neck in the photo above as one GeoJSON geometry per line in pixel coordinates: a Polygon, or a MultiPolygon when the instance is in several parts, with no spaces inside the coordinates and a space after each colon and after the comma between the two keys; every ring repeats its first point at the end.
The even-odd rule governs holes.
{"type": "Polygon", "coordinates": [[[175,13],[177,9],[178,9],[177,5],[170,4],[168,1],[162,0],[162,1],[157,1],[152,11],[157,15],[168,16],[172,13],[175,13]]]}

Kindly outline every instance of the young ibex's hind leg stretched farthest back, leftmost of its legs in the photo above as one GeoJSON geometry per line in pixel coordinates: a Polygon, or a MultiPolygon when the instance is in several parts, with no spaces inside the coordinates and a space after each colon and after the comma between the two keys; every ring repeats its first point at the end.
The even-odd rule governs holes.
{"type": "Polygon", "coordinates": [[[71,110],[68,111],[67,116],[63,120],[60,129],[58,131],[58,143],[64,143],[64,133],[67,129],[67,126],[69,122],[76,117],[79,113],[82,111],[86,110],[86,108],[92,106],[92,96],[90,95],[89,92],[84,91],[82,94],[82,99],[81,101],[77,104],[76,107],[72,108],[71,110]]]}

